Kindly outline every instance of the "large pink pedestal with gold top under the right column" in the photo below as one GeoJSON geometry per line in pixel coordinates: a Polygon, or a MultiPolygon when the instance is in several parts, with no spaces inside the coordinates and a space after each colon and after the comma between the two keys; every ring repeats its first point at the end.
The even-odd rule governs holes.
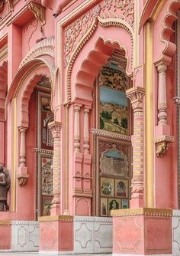
{"type": "Polygon", "coordinates": [[[130,208],[111,215],[114,256],[172,254],[172,210],[130,208]]]}

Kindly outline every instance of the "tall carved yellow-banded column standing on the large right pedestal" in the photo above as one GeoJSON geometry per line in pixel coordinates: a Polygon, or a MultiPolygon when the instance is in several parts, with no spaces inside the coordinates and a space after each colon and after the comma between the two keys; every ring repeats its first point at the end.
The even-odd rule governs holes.
{"type": "Polygon", "coordinates": [[[144,206],[144,152],[143,152],[143,97],[142,87],[127,90],[127,97],[133,107],[133,179],[131,183],[131,208],[144,206]]]}

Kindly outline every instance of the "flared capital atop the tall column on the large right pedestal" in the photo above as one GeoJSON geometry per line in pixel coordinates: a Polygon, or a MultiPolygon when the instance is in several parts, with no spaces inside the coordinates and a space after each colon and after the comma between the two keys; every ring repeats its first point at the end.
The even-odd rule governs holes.
{"type": "Polygon", "coordinates": [[[143,108],[143,97],[145,95],[145,89],[143,87],[132,87],[126,91],[127,98],[130,99],[133,110],[143,108]]]}

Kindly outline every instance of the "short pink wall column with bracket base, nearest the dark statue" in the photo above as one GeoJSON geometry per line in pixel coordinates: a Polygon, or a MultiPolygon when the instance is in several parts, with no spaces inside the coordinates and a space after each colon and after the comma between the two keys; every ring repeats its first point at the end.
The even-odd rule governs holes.
{"type": "Polygon", "coordinates": [[[20,159],[19,159],[19,168],[18,168],[18,180],[19,185],[23,186],[27,182],[29,175],[27,174],[26,166],[26,130],[27,127],[19,126],[20,131],[20,159]]]}

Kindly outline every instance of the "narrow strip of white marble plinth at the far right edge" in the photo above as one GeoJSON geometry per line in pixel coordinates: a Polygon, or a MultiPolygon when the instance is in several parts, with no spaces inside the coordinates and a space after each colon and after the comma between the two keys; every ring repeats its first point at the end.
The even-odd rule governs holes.
{"type": "Polygon", "coordinates": [[[172,255],[180,255],[180,210],[172,210],[172,255]]]}

